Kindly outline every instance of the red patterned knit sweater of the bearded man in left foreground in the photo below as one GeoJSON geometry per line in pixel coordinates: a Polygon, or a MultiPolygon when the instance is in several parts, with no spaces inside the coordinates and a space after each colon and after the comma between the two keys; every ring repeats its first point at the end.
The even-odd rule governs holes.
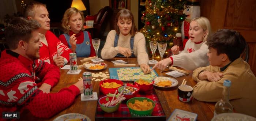
{"type": "Polygon", "coordinates": [[[0,63],[1,114],[3,111],[28,109],[35,117],[52,117],[70,106],[79,94],[74,85],[57,93],[46,94],[38,90],[35,76],[52,87],[59,81],[59,68],[52,64],[31,61],[11,50],[1,53],[0,63]]]}

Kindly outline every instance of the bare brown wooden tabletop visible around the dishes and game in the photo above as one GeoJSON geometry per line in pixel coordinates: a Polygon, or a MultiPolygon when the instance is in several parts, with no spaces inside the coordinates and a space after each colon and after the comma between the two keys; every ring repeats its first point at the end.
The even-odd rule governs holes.
{"type": "MultiPolygon", "coordinates": [[[[77,59],[78,59],[78,65],[82,64],[79,60],[83,58],[77,58],[77,59]]],[[[86,71],[90,71],[93,73],[106,72],[108,71],[109,68],[114,68],[114,64],[111,61],[120,60],[120,59],[128,62],[128,64],[136,64],[136,67],[139,67],[137,58],[113,58],[110,60],[104,60],[104,63],[108,64],[108,67],[99,71],[90,71],[85,68],[81,68],[82,71],[79,74],[67,74],[67,72],[69,71],[68,69],[60,69],[61,76],[60,76],[59,83],[52,88],[52,91],[50,93],[58,92],[61,88],[71,86],[72,84],[78,81],[79,77],[82,77],[83,72],[86,72],[86,71]]],[[[158,58],[156,60],[159,61],[158,58]]],[[[92,62],[92,61],[89,60],[88,62],[92,62]]],[[[151,64],[150,66],[153,67],[154,65],[151,64]]],[[[167,75],[166,72],[160,73],[160,70],[158,69],[155,69],[155,71],[158,73],[158,76],[171,77],[167,75]]],[[[184,76],[180,76],[177,78],[175,77],[172,77],[172,78],[178,80],[178,86],[181,85],[182,80],[185,79],[187,80],[187,85],[193,87],[196,85],[196,82],[192,79],[192,73],[193,71],[189,71],[189,74],[186,74],[184,76]]],[[[100,81],[97,81],[97,82],[93,81],[93,92],[97,92],[98,96],[99,96],[99,82],[100,81]]],[[[192,113],[196,113],[198,115],[197,121],[210,121],[211,118],[214,116],[215,103],[201,102],[201,101],[197,101],[196,99],[193,99],[190,102],[181,102],[177,98],[178,86],[172,87],[172,88],[160,88],[160,87],[154,86],[155,93],[157,94],[157,97],[159,98],[159,102],[161,103],[163,111],[166,115],[166,120],[168,120],[168,118],[170,117],[170,115],[175,109],[181,109],[181,110],[189,111],[192,113]]],[[[61,116],[63,114],[80,113],[88,116],[92,121],[95,121],[96,110],[97,110],[97,101],[81,101],[81,96],[79,94],[71,106],[67,107],[65,110],[61,111],[60,113],[57,113],[55,116],[51,118],[36,118],[33,115],[31,115],[31,113],[28,110],[25,110],[23,111],[23,113],[20,114],[19,120],[52,121],[56,117],[61,116]]]]}

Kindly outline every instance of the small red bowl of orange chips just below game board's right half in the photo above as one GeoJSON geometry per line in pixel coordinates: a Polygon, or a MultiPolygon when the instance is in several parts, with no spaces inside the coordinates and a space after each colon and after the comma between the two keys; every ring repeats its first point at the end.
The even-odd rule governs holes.
{"type": "Polygon", "coordinates": [[[134,83],[138,84],[141,92],[151,90],[151,88],[153,87],[153,84],[154,84],[152,81],[147,80],[147,79],[137,79],[137,80],[135,80],[134,83]]]}

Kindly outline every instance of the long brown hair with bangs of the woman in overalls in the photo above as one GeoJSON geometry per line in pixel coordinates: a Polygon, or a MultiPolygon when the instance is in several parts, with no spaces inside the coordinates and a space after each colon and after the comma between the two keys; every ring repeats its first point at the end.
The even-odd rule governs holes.
{"type": "Polygon", "coordinates": [[[133,15],[132,15],[132,12],[129,11],[128,9],[122,9],[122,10],[120,10],[120,11],[117,13],[116,19],[115,19],[115,22],[116,22],[116,23],[114,24],[114,29],[116,30],[116,33],[117,33],[117,34],[120,34],[120,30],[119,30],[119,28],[118,28],[118,26],[117,26],[117,22],[118,22],[118,20],[122,20],[122,19],[130,19],[130,20],[132,20],[132,28],[131,28],[130,34],[131,34],[132,36],[134,36],[135,33],[138,31],[138,29],[137,29],[136,26],[135,26],[134,17],[133,17],[133,15]]]}

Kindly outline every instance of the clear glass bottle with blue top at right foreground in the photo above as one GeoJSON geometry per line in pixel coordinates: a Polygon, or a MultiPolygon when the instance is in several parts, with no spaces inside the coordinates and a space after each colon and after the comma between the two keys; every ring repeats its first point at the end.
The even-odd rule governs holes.
{"type": "Polygon", "coordinates": [[[229,102],[231,81],[225,80],[223,83],[222,99],[215,104],[214,116],[221,113],[232,113],[233,107],[229,102]]]}

